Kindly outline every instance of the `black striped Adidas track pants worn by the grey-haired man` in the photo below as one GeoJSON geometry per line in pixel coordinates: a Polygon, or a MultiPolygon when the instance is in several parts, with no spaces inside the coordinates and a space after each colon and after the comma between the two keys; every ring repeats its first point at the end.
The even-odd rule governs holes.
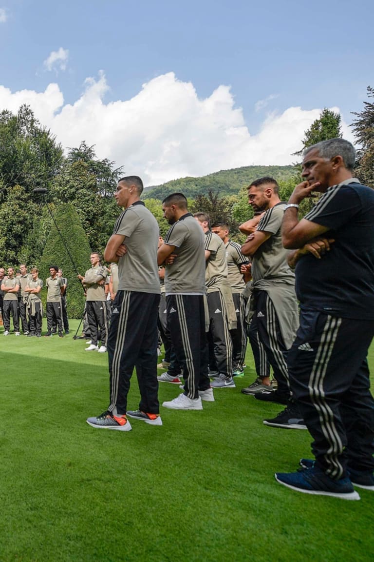
{"type": "Polygon", "coordinates": [[[288,354],[290,386],[331,478],[374,470],[374,400],[366,360],[374,321],[302,310],[288,354]]]}

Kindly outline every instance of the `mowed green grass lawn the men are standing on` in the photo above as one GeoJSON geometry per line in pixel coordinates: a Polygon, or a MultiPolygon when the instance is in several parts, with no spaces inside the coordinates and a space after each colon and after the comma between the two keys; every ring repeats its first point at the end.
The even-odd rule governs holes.
{"type": "MultiPolygon", "coordinates": [[[[372,562],[373,492],[344,501],[276,483],[310,456],[310,436],[262,424],[281,406],[240,392],[255,378],[249,351],[246,376],[203,411],[161,408],[163,427],[131,420],[125,433],[86,424],[109,403],[108,357],[73,333],[0,329],[1,561],[372,562]]],[[[160,384],[160,402],[179,392],[160,384]]],[[[129,409],[138,399],[134,375],[129,409]]]]}

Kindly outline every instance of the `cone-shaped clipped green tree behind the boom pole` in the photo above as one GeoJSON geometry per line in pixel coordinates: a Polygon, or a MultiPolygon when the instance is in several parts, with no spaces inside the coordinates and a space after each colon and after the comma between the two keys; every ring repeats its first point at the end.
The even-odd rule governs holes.
{"type": "MultiPolygon", "coordinates": [[[[45,243],[43,256],[39,267],[39,277],[49,277],[49,268],[56,265],[63,270],[64,277],[68,280],[67,311],[70,318],[81,318],[85,305],[85,296],[82,284],[77,279],[77,273],[72,265],[65,244],[72,256],[77,271],[81,275],[90,267],[91,248],[86,233],[82,227],[77,211],[70,203],[61,203],[56,208],[54,220],[62,233],[63,241],[56,226],[52,223],[45,243]]],[[[47,291],[43,289],[42,300],[45,303],[47,291]]]]}

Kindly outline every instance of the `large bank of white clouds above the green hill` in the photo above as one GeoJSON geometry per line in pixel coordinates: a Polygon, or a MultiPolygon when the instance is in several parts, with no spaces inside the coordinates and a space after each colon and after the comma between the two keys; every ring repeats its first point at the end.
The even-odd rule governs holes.
{"type": "MultiPolygon", "coordinates": [[[[105,103],[107,90],[102,73],[87,79],[80,98],[66,105],[58,84],[40,93],[11,93],[0,87],[0,107],[15,112],[21,103],[29,103],[64,147],[79,146],[81,140],[95,144],[99,158],[123,165],[126,174],[142,176],[145,185],[237,166],[292,164],[304,131],[321,112],[301,107],[273,112],[251,135],[227,86],[199,99],[193,84],[169,72],[143,84],[131,99],[105,103]]],[[[353,139],[344,123],[343,133],[353,139]]]]}

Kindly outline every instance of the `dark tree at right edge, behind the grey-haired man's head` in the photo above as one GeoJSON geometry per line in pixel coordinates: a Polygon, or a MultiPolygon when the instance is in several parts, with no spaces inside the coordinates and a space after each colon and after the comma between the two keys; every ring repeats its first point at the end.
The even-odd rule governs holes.
{"type": "MultiPolygon", "coordinates": [[[[374,88],[367,87],[369,98],[374,97],[374,88]]],[[[362,183],[374,187],[374,103],[363,102],[364,108],[356,113],[358,119],[350,125],[361,148],[357,151],[355,175],[362,183]]]]}

